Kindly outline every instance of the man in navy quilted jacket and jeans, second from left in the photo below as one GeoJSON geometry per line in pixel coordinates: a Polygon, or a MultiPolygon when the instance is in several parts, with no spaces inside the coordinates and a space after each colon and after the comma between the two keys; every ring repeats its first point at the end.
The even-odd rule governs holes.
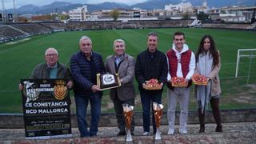
{"type": "Polygon", "coordinates": [[[96,136],[101,114],[102,91],[97,86],[96,74],[105,73],[102,56],[92,51],[92,41],[82,36],[80,51],[70,58],[70,71],[74,78],[74,98],[80,137],[96,136]],[[86,109],[90,101],[90,130],[87,130],[86,109]]]}

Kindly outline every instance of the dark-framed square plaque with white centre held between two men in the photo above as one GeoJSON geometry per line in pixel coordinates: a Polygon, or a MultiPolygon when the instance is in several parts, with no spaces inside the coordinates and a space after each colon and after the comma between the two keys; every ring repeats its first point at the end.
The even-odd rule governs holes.
{"type": "Polygon", "coordinates": [[[97,74],[97,85],[101,90],[121,86],[118,74],[97,74]]]}

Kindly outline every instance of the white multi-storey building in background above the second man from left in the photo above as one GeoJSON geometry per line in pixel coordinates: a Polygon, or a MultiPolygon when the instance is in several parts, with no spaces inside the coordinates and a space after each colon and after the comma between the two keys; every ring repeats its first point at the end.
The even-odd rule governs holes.
{"type": "Polygon", "coordinates": [[[70,10],[70,21],[85,21],[86,13],[88,12],[87,6],[78,7],[77,9],[70,10]]]}

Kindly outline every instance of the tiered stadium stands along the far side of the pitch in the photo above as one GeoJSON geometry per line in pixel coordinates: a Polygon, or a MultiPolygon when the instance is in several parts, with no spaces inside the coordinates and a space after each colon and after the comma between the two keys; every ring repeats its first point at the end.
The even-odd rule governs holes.
{"type": "MultiPolygon", "coordinates": [[[[0,25],[0,42],[8,42],[35,34],[49,34],[55,31],[142,29],[188,27],[193,20],[145,20],[145,21],[97,21],[97,22],[38,22],[0,25]]],[[[256,30],[256,22],[249,23],[202,23],[202,27],[214,29],[256,30]]]]}

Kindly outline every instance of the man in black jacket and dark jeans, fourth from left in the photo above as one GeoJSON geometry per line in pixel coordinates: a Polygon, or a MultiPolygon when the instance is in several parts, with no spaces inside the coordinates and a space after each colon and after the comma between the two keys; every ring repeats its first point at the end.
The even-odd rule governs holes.
{"type": "MultiPolygon", "coordinates": [[[[150,32],[147,39],[147,50],[138,54],[135,65],[135,76],[138,81],[138,90],[141,95],[142,109],[143,109],[143,135],[150,134],[150,108],[152,102],[161,103],[161,90],[146,90],[146,81],[155,78],[163,86],[167,77],[167,61],[166,55],[158,50],[158,34],[150,32]]],[[[152,108],[152,123],[154,134],[156,132],[154,122],[154,111],[152,108]]]]}

